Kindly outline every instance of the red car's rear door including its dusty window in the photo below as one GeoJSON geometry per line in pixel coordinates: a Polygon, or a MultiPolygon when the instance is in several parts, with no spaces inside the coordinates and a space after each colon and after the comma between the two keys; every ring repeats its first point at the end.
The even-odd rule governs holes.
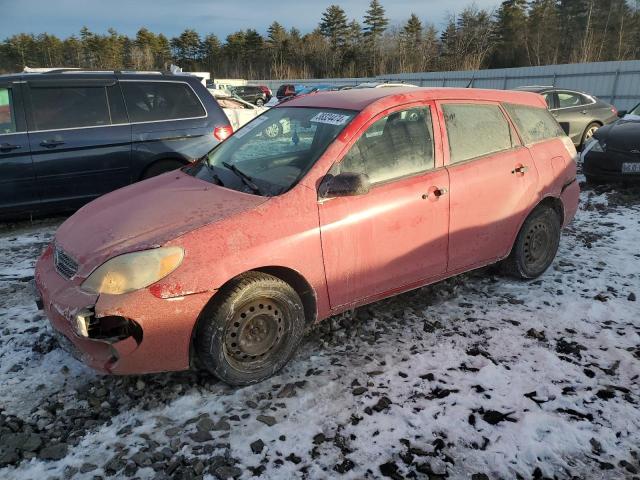
{"type": "Polygon", "coordinates": [[[497,103],[441,102],[451,186],[452,273],[510,251],[537,194],[538,172],[497,103]]]}

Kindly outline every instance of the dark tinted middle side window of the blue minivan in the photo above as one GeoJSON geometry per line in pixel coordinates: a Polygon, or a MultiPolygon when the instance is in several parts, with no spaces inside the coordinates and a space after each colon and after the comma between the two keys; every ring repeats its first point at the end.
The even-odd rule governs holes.
{"type": "Polygon", "coordinates": [[[111,125],[106,88],[32,85],[35,130],[111,125]]]}

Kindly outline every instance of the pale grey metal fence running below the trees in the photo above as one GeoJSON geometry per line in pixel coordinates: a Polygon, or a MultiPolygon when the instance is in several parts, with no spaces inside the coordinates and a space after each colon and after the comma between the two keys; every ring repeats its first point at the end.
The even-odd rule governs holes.
{"type": "Polygon", "coordinates": [[[267,85],[275,90],[283,83],[357,85],[367,81],[396,81],[421,87],[473,87],[501,90],[524,85],[553,85],[590,93],[612,103],[618,109],[630,109],[640,103],[640,60],[460,72],[405,73],[371,78],[254,80],[250,83],[267,85]]]}

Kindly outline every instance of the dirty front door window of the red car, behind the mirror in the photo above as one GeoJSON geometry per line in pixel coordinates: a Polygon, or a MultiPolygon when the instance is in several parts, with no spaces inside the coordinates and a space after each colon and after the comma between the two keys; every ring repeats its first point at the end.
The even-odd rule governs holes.
{"type": "Polygon", "coordinates": [[[372,184],[432,169],[433,123],[428,107],[394,112],[371,125],[331,174],[363,173],[372,184]]]}

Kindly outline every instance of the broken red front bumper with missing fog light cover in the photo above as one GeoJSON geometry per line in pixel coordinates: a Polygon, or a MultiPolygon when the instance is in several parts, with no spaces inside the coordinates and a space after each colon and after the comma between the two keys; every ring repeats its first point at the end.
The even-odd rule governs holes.
{"type": "Polygon", "coordinates": [[[51,247],[38,261],[35,280],[36,304],[61,346],[93,369],[127,375],[189,368],[191,333],[210,294],[87,293],[81,279],[56,272],[51,247]]]}

